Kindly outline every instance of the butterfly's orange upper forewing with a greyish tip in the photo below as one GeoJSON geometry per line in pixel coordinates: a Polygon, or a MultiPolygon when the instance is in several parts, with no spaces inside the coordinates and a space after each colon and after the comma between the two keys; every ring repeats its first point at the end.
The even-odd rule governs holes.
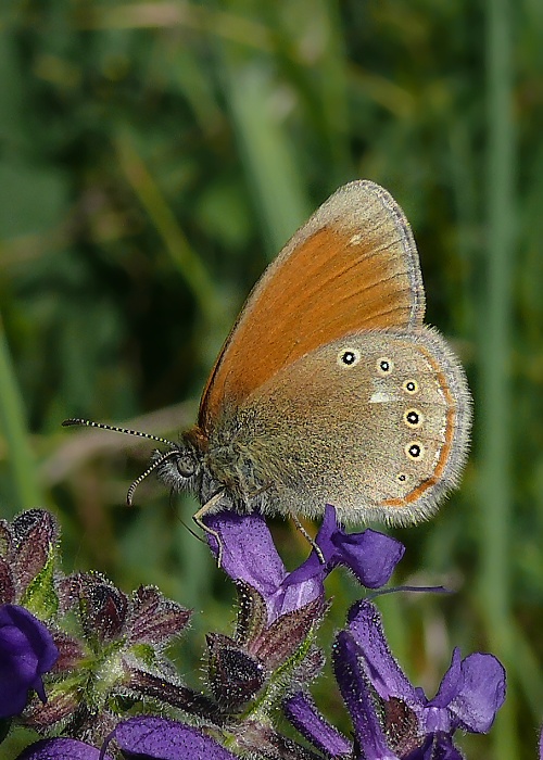
{"type": "Polygon", "coordinates": [[[359,330],[417,327],[425,291],[404,213],[367,180],[350,182],[301,227],[253,288],[202,395],[209,433],[279,369],[359,330]]]}

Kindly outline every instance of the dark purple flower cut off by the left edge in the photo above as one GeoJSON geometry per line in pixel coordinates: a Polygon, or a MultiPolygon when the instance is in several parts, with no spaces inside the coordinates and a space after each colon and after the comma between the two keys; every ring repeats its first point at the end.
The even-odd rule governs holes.
{"type": "Polygon", "coordinates": [[[16,605],[0,606],[0,718],[20,714],[29,689],[46,701],[41,675],[58,657],[51,634],[34,615],[16,605]]]}

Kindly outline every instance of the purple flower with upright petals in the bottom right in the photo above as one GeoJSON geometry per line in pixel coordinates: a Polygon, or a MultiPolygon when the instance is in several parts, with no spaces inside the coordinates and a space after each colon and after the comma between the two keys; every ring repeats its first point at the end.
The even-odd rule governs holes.
{"type": "MultiPolygon", "coordinates": [[[[505,699],[505,672],[492,655],[462,660],[457,649],[438,689],[428,699],[412,686],[392,657],[376,607],[351,609],[349,625],[333,647],[336,677],[351,713],[355,757],[366,760],[462,760],[453,745],[457,729],[485,733],[505,699]]],[[[295,727],[328,757],[345,753],[344,737],[319,715],[303,693],[285,705],[295,727]]]]}

